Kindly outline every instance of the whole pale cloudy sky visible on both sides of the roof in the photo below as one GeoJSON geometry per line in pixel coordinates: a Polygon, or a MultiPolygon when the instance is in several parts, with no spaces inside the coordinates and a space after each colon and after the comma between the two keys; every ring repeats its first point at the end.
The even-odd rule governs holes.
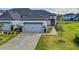
{"type": "MultiPolygon", "coordinates": [[[[11,8],[0,8],[0,10],[9,10],[11,8]]],[[[31,8],[33,10],[44,9],[56,14],[65,14],[65,13],[78,13],[78,8],[31,8]]]]}

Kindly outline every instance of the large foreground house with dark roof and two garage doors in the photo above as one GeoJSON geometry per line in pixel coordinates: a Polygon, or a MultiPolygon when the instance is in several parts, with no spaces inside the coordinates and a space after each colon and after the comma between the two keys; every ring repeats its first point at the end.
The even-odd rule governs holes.
{"type": "Polygon", "coordinates": [[[44,29],[56,25],[56,14],[46,10],[31,10],[15,8],[7,10],[0,16],[3,30],[10,30],[11,25],[17,24],[23,32],[44,32],[44,29]]]}

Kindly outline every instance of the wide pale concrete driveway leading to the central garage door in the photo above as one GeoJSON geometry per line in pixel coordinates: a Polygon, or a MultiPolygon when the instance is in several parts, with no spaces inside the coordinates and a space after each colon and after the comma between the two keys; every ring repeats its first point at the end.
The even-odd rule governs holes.
{"type": "Polygon", "coordinates": [[[0,46],[0,50],[34,50],[40,36],[40,33],[21,33],[0,46]]]}

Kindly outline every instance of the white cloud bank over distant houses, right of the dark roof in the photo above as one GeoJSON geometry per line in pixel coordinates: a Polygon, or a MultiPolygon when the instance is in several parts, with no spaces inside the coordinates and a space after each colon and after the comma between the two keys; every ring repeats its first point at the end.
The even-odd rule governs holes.
{"type": "Polygon", "coordinates": [[[57,13],[57,14],[78,13],[79,12],[78,8],[49,8],[49,9],[45,9],[45,10],[52,12],[52,13],[57,13]]]}

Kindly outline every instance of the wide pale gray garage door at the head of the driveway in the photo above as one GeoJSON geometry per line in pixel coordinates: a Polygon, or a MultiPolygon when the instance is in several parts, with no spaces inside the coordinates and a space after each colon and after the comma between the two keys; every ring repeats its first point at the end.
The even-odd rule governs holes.
{"type": "Polygon", "coordinates": [[[43,32],[42,23],[24,23],[23,32],[43,32]]]}

